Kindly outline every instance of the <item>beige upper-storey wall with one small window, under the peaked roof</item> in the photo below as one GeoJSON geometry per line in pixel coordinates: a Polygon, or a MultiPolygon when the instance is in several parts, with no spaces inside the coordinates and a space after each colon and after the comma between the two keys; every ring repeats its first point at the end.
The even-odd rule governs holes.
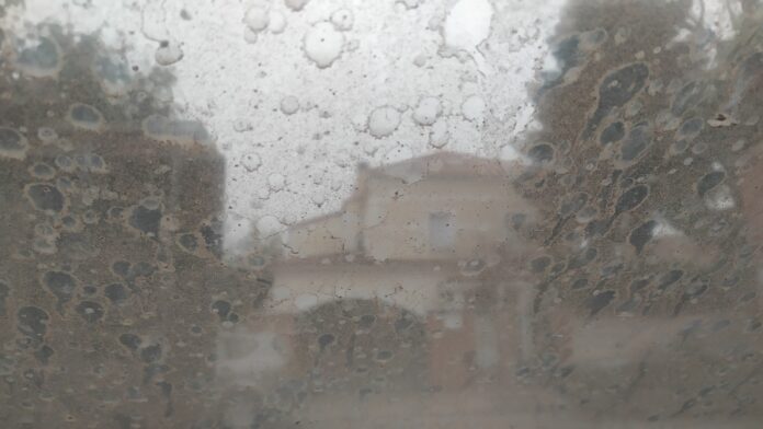
{"type": "Polygon", "coordinates": [[[528,205],[501,177],[436,176],[412,184],[375,178],[368,183],[363,245],[380,260],[483,257],[519,240],[506,222],[519,210],[528,205]]]}

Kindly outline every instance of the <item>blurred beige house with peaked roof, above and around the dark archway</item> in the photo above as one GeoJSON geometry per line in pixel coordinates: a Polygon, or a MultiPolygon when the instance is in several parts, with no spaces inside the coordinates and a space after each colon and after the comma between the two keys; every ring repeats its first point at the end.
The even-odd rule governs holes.
{"type": "MultiPolygon", "coordinates": [[[[497,160],[441,152],[361,165],[355,193],[340,211],[283,234],[285,254],[272,266],[263,309],[270,322],[261,324],[271,334],[239,334],[275,332],[286,339],[272,348],[250,341],[260,347],[250,352],[270,359],[249,359],[244,351],[236,360],[243,367],[229,369],[242,384],[249,383],[240,378],[247,361],[264,372],[309,370],[309,361],[295,363],[300,357],[287,346],[297,334],[295,320],[356,300],[405,310],[424,324],[430,385],[460,389],[475,370],[513,373],[532,350],[532,287],[522,267],[534,247],[516,225],[535,216],[497,160]],[[513,266],[515,275],[499,277],[499,265],[513,266]]],[[[243,339],[231,335],[232,343],[243,339]]]]}

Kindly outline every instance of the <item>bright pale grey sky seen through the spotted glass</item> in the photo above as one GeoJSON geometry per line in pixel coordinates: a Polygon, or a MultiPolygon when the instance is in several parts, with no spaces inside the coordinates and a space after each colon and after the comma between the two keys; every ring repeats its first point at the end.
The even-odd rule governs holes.
{"type": "MultiPolygon", "coordinates": [[[[271,234],[337,210],[360,161],[515,155],[533,126],[527,85],[553,66],[546,42],[565,1],[295,3],[26,0],[15,24],[100,30],[129,65],[171,69],[178,115],[202,121],[227,159],[235,251],[252,227],[271,234]],[[170,45],[157,55],[161,39],[170,45]]],[[[705,3],[707,16],[725,13],[722,1],[705,3]]]]}

